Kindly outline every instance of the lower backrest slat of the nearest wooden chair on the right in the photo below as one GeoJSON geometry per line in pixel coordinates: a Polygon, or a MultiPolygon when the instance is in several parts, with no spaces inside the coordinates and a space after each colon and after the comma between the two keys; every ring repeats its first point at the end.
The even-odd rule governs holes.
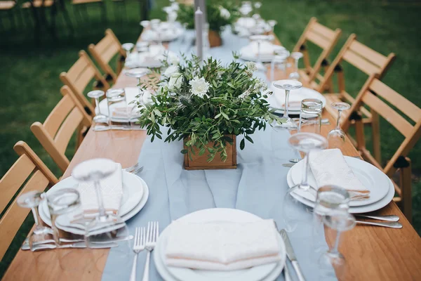
{"type": "Polygon", "coordinates": [[[374,108],[379,115],[382,115],[382,117],[392,124],[396,130],[401,132],[403,136],[407,137],[411,131],[413,131],[413,126],[406,121],[405,118],[399,115],[398,112],[394,111],[392,107],[389,107],[389,105],[387,105],[383,100],[374,96],[373,93],[367,91],[362,100],[363,103],[371,108],[374,108]]]}

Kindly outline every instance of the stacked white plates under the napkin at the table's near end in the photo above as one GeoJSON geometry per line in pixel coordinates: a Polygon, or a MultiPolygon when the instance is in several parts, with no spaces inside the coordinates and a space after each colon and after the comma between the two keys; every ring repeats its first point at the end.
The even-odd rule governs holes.
{"type": "MultiPolygon", "coordinates": [[[[256,221],[259,219],[262,218],[259,218],[258,216],[250,214],[246,211],[217,208],[195,211],[194,213],[179,218],[179,221],[189,223],[215,221],[244,223],[256,221]]],[[[165,250],[170,233],[171,225],[163,230],[153,251],[156,270],[158,270],[161,277],[163,277],[163,280],[166,281],[272,281],[279,276],[283,269],[283,265],[285,264],[285,244],[283,244],[281,236],[279,235],[279,247],[282,260],[277,263],[267,263],[262,266],[254,266],[253,268],[232,271],[194,270],[191,268],[176,268],[166,266],[165,250]]]]}

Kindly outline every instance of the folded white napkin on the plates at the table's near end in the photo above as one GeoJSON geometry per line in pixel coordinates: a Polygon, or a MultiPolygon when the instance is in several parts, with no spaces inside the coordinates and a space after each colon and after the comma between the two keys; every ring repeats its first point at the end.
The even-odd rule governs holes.
{"type": "Polygon", "coordinates": [[[168,266],[238,270],[279,261],[273,220],[250,223],[175,221],[166,245],[168,266]]]}

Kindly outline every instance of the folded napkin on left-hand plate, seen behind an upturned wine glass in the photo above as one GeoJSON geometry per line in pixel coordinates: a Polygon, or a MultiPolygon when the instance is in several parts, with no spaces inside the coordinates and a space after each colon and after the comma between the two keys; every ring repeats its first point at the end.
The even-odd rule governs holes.
{"type": "MultiPolygon", "coordinates": [[[[116,163],[117,169],[107,178],[100,181],[102,202],[107,212],[117,214],[123,197],[123,181],[121,164],[116,163]]],[[[98,200],[93,183],[79,183],[77,188],[81,195],[81,207],[84,214],[98,213],[98,200]]]]}

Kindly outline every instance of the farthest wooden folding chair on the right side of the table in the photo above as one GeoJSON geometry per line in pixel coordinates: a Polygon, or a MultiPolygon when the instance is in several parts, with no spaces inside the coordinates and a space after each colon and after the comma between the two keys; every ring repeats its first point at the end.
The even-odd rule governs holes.
{"type": "MultiPolygon", "coordinates": [[[[316,79],[319,81],[323,79],[319,72],[322,67],[325,71],[328,69],[328,55],[330,55],[330,52],[338,42],[341,32],[342,31],[339,28],[333,31],[330,30],[330,28],[321,25],[317,22],[316,18],[310,19],[307,27],[305,27],[304,32],[302,32],[300,39],[293,49],[294,52],[300,51],[303,54],[305,69],[299,70],[298,72],[305,84],[310,85],[315,89],[318,86],[316,79]],[[316,63],[314,63],[314,66],[310,63],[310,56],[306,46],[307,41],[312,42],[322,49],[319,58],[317,58],[316,63]]],[[[332,89],[331,80],[328,84],[326,84],[326,89],[332,89]]]]}

